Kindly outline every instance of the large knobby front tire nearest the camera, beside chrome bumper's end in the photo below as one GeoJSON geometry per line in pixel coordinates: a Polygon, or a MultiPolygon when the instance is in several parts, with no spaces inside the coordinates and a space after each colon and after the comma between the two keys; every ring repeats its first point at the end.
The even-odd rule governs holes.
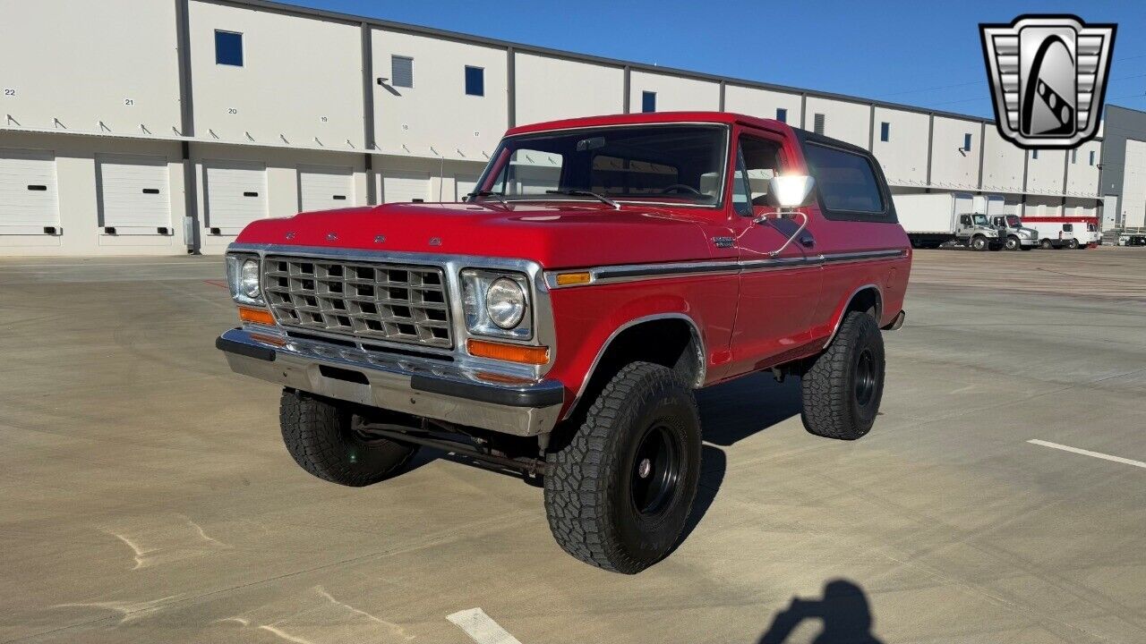
{"type": "Polygon", "coordinates": [[[554,539],[606,571],[635,574],[656,564],[676,547],[688,520],[700,478],[700,441],[697,402],[680,375],[649,362],[623,367],[568,445],[547,455],[545,515],[554,539]],[[676,462],[678,476],[661,510],[642,515],[633,492],[641,482],[637,450],[659,432],[676,449],[661,463],[676,462]]]}

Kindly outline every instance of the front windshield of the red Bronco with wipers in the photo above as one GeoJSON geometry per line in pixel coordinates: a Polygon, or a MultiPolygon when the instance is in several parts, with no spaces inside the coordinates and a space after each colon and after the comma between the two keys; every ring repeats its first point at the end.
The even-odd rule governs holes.
{"type": "Polygon", "coordinates": [[[490,159],[477,198],[596,198],[590,191],[618,202],[720,205],[727,132],[638,125],[512,136],[490,159]]]}

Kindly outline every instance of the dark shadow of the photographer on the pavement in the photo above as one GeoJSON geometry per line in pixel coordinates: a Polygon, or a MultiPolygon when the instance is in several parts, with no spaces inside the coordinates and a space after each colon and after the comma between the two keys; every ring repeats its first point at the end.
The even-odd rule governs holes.
{"type": "Polygon", "coordinates": [[[858,583],[846,579],[825,583],[822,598],[792,597],[788,606],[772,616],[756,644],[784,644],[806,620],[823,623],[813,644],[882,644],[872,633],[874,620],[868,596],[858,583]]]}

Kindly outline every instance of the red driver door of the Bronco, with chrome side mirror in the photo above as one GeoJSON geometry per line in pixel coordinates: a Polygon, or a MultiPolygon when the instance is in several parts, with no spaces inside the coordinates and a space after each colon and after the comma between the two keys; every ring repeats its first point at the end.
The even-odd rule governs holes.
{"type": "Polygon", "coordinates": [[[823,281],[815,250],[817,209],[800,209],[808,214],[808,226],[775,257],[771,253],[796,231],[802,218],[756,223],[758,218],[775,211],[775,206],[767,204],[768,180],[782,173],[793,157],[793,151],[785,151],[784,139],[778,134],[744,129],[737,138],[733,213],[729,226],[741,270],[731,344],[732,374],[783,361],[784,354],[795,353],[811,339],[810,327],[823,281]]]}

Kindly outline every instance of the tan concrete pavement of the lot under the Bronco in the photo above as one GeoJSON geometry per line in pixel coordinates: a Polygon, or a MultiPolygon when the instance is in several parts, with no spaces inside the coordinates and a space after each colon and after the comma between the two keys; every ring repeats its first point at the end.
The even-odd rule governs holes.
{"type": "Polygon", "coordinates": [[[476,607],[523,644],[1146,641],[1146,469],[1028,442],[1146,461],[1146,293],[1073,286],[1112,266],[1146,249],[920,251],[872,433],[806,433],[791,380],[701,392],[691,532],[621,576],[519,479],[296,466],[213,348],[219,258],[5,260],[0,642],[460,644],[476,607]]]}

